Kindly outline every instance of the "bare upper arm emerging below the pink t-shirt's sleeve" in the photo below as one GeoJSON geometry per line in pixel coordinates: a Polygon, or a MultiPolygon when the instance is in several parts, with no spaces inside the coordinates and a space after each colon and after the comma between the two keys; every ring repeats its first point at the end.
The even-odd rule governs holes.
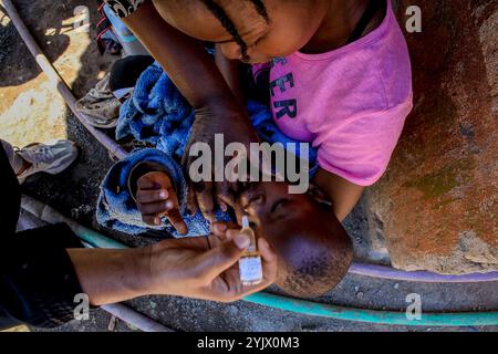
{"type": "Polygon", "coordinates": [[[343,221],[350,215],[365,189],[322,168],[319,169],[313,181],[333,202],[339,221],[343,221]]]}

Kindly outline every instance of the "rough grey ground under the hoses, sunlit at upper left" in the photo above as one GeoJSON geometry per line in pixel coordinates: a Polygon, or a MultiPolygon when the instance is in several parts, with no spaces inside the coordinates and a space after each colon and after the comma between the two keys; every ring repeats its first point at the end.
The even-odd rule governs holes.
{"type": "MultiPolygon", "coordinates": [[[[95,1],[15,0],[21,17],[77,97],[84,95],[115,60],[101,56],[90,34],[73,29],[76,6],[91,9],[95,23],[95,1]]],[[[94,205],[98,184],[112,160],[104,148],[82,127],[64,106],[54,87],[40,72],[12,23],[0,7],[0,138],[23,146],[31,142],[69,137],[81,149],[77,162],[59,176],[34,176],[24,192],[42,200],[83,225],[96,228],[94,205]]],[[[369,241],[361,206],[346,222],[356,247],[356,258],[369,260],[369,241]]],[[[128,244],[151,240],[116,236],[128,244]]],[[[347,275],[330,294],[318,302],[372,310],[404,311],[411,293],[422,296],[424,311],[498,310],[498,283],[424,284],[347,275]]],[[[270,289],[278,292],[278,289],[270,289]]],[[[176,331],[497,331],[488,327],[405,327],[372,325],[298,315],[239,301],[219,304],[172,296],[129,301],[128,305],[176,331]]],[[[110,331],[111,315],[92,312],[91,320],[72,322],[58,331],[110,331]]],[[[134,331],[122,322],[112,331],[134,331]]]]}

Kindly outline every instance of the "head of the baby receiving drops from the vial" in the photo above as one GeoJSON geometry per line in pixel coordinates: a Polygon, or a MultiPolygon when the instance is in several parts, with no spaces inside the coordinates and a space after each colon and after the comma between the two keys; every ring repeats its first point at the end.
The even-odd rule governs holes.
{"type": "Polygon", "coordinates": [[[300,298],[319,296],[346,274],[352,243],[318,189],[291,195],[288,187],[286,183],[251,184],[237,201],[237,218],[248,215],[257,236],[277,252],[277,284],[282,290],[300,298]]]}

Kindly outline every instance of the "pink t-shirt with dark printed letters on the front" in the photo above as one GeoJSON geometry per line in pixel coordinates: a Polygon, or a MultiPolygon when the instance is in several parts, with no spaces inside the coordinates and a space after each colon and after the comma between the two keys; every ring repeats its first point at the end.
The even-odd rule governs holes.
{"type": "Polygon", "coordinates": [[[360,185],[381,178],[413,107],[407,45],[387,1],[382,24],[323,54],[297,52],[271,64],[273,119],[319,148],[323,169],[360,185]]]}

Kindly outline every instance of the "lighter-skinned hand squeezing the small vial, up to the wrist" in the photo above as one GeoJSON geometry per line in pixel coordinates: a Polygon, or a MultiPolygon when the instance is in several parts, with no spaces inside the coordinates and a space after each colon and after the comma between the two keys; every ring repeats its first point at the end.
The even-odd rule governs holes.
{"type": "Polygon", "coordinates": [[[166,240],[151,247],[149,294],[169,294],[219,302],[239,300],[272,284],[277,277],[277,256],[260,238],[263,281],[242,285],[238,260],[249,238],[226,225],[216,225],[214,235],[166,240]]]}

